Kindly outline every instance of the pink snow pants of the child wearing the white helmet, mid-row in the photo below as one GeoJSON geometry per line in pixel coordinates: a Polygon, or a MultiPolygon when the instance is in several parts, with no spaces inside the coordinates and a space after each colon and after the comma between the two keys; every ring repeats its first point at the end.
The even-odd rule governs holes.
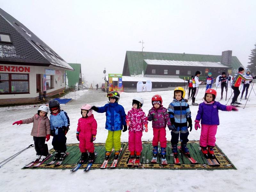
{"type": "Polygon", "coordinates": [[[129,151],[136,151],[136,152],[142,151],[141,137],[142,137],[142,131],[136,131],[136,132],[129,131],[129,141],[128,141],[129,151]]]}

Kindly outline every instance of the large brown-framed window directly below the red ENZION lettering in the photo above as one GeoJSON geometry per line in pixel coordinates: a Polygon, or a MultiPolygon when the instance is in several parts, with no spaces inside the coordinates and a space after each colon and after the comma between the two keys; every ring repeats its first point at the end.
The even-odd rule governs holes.
{"type": "Polygon", "coordinates": [[[28,74],[0,73],[0,94],[29,93],[28,74]]]}

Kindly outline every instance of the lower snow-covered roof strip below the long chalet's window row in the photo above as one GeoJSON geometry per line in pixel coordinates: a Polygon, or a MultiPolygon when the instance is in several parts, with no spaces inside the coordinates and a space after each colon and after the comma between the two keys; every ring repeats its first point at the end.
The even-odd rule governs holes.
{"type": "Polygon", "coordinates": [[[150,80],[151,82],[175,82],[175,83],[182,83],[184,82],[183,79],[177,78],[159,78],[159,77],[131,77],[131,76],[123,76],[122,81],[135,81],[135,82],[146,82],[147,80],[150,80]]]}

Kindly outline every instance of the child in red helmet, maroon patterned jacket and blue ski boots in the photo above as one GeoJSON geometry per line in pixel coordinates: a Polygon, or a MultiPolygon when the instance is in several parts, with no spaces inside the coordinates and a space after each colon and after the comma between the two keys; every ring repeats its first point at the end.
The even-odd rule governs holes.
{"type": "Polygon", "coordinates": [[[158,142],[160,141],[161,155],[166,156],[166,125],[171,125],[170,117],[166,108],[163,107],[161,95],[153,95],[151,99],[153,107],[148,111],[148,121],[152,121],[153,128],[153,156],[157,157],[158,142]]]}

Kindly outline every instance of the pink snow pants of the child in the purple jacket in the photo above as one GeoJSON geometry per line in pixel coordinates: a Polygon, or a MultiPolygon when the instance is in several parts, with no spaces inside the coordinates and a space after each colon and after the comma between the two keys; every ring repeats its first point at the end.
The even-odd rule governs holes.
{"type": "Polygon", "coordinates": [[[215,146],[217,125],[201,124],[200,147],[215,146]]]}

